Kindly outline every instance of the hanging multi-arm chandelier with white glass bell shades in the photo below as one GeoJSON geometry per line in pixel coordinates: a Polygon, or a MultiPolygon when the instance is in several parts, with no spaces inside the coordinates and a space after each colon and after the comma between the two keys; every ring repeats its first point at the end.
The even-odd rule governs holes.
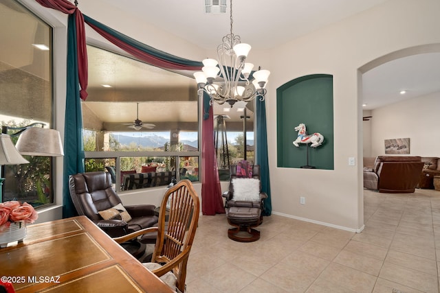
{"type": "Polygon", "coordinates": [[[254,65],[245,62],[251,47],[241,43],[240,36],[232,33],[233,22],[230,0],[230,34],[223,36],[223,43],[217,47],[218,61],[205,59],[202,71],[194,73],[199,91],[210,95],[211,104],[212,101],[217,104],[228,102],[231,108],[235,102],[249,102],[255,97],[263,101],[270,75],[270,71],[260,68],[252,73],[254,65]]]}

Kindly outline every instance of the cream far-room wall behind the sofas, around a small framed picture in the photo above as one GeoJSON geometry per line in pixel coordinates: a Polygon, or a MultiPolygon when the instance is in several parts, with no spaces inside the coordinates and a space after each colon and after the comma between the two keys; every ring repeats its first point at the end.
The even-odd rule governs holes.
{"type": "Polygon", "coordinates": [[[440,156],[440,92],[371,111],[371,153],[385,154],[384,139],[410,138],[410,155],[440,156]]]}

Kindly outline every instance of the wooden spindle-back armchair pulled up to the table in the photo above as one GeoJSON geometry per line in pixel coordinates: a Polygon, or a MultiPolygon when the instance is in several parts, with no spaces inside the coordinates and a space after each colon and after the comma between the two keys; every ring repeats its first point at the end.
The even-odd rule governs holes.
{"type": "Polygon", "coordinates": [[[141,235],[146,236],[147,233],[157,233],[151,263],[143,265],[173,290],[184,292],[186,265],[199,222],[199,212],[199,197],[192,183],[190,180],[181,180],[166,191],[160,205],[157,227],[145,228],[113,239],[122,243],[141,235]],[[169,210],[166,210],[167,202],[169,210]]]}

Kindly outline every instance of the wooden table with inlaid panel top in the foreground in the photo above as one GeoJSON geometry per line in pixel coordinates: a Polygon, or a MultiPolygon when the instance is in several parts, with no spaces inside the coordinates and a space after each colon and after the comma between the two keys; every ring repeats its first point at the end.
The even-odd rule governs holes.
{"type": "Polygon", "coordinates": [[[85,216],[28,226],[0,249],[16,292],[173,292],[85,216]]]}

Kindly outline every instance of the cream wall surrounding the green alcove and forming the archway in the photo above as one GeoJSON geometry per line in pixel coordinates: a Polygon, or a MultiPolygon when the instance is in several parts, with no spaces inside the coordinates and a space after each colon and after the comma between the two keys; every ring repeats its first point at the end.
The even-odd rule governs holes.
{"type": "Polygon", "coordinates": [[[362,229],[362,79],[358,69],[393,51],[440,43],[439,11],[437,0],[391,0],[272,51],[266,101],[274,212],[362,229]],[[276,88],[313,73],[333,75],[334,170],[278,168],[276,88]],[[348,165],[349,156],[355,157],[355,167],[348,165]],[[300,196],[305,196],[306,204],[300,204],[300,196]]]}

